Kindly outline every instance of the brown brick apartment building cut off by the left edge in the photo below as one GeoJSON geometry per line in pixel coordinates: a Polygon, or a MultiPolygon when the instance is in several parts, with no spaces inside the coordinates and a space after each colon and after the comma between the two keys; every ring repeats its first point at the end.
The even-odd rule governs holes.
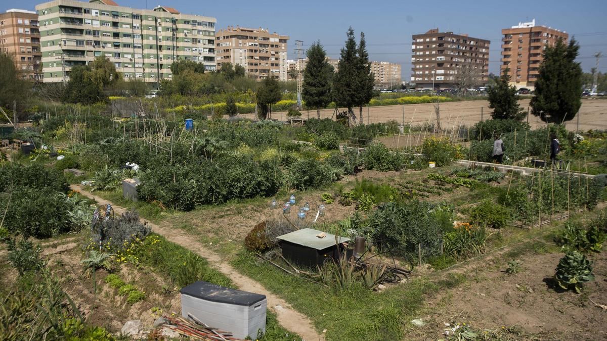
{"type": "Polygon", "coordinates": [[[0,52],[15,58],[23,79],[42,80],[36,12],[11,9],[0,13],[0,52]]]}

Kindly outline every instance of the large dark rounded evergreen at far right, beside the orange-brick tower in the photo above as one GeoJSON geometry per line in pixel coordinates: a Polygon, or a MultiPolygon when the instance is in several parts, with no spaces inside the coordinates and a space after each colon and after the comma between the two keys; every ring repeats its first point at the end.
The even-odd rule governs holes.
{"type": "Polygon", "coordinates": [[[531,107],[546,123],[572,120],[582,106],[582,67],[575,62],[579,49],[575,39],[566,45],[561,38],[544,49],[531,107]]]}

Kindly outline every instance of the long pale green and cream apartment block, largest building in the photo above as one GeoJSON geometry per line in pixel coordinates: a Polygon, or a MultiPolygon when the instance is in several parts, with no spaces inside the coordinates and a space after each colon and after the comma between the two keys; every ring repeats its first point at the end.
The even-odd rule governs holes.
{"type": "Polygon", "coordinates": [[[126,79],[171,78],[171,63],[191,60],[215,69],[215,23],[175,8],[123,7],[112,0],[55,0],[36,5],[44,82],[69,79],[72,67],[98,56],[126,79]]]}

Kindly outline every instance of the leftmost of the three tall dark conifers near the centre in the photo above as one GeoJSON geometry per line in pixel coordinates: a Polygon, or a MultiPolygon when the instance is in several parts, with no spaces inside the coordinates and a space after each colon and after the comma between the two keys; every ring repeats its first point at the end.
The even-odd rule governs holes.
{"type": "Polygon", "coordinates": [[[320,41],[310,46],[306,56],[308,63],[304,69],[302,99],[307,107],[316,109],[316,115],[320,119],[320,109],[331,103],[333,67],[327,62],[327,52],[320,45],[320,41]]]}

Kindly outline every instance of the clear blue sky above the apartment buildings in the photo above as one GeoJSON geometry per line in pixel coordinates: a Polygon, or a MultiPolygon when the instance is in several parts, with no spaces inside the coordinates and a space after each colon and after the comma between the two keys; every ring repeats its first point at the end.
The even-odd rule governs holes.
{"type": "MultiPolygon", "coordinates": [[[[409,79],[411,36],[433,27],[441,32],[467,33],[491,41],[489,70],[497,73],[500,64],[501,29],[531,21],[565,30],[580,43],[579,61],[589,72],[595,52],[605,55],[599,69],[607,72],[606,0],[586,1],[191,1],[115,0],[133,8],[153,8],[158,4],[175,7],[182,13],[213,16],[217,28],[228,25],[263,27],[290,36],[289,58],[294,59],[294,41],[304,47],[320,39],[329,56],[339,57],[345,32],[351,25],[358,36],[365,32],[370,58],[399,62],[403,80],[409,79]],[[506,4],[506,5],[504,5],[506,4]]],[[[0,0],[0,11],[8,8],[33,10],[40,1],[0,0]]]]}

